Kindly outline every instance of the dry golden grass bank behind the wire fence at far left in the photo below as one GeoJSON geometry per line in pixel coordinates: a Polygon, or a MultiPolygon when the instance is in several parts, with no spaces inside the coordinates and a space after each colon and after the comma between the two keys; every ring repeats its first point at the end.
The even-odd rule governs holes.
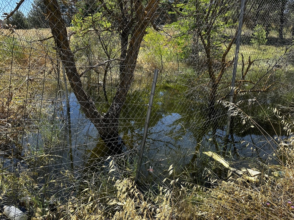
{"type": "Polygon", "coordinates": [[[48,105],[40,94],[43,99],[54,94],[60,73],[54,72],[53,48],[28,40],[45,37],[49,30],[16,30],[6,35],[8,31],[0,34],[0,148],[6,156],[20,156],[20,139],[48,105]]]}

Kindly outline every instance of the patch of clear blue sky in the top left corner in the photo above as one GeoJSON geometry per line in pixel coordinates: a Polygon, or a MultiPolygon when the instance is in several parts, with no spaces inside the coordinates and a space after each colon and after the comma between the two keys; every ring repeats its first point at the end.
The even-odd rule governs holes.
{"type": "MultiPolygon", "coordinates": [[[[19,0],[0,0],[0,16],[3,13],[10,13],[16,7],[16,2],[19,2],[19,0]]],[[[19,11],[26,16],[32,8],[32,2],[33,0],[25,0],[19,7],[19,11]]],[[[0,19],[3,19],[3,17],[0,19]]]]}

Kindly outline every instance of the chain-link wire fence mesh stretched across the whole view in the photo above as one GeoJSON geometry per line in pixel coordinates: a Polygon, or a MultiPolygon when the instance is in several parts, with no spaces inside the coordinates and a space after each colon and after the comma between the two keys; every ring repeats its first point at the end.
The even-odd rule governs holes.
{"type": "Polygon", "coordinates": [[[124,215],[115,199],[133,186],[155,69],[133,199],[176,182],[211,188],[213,178],[224,180],[227,170],[208,152],[239,170],[285,163],[293,2],[246,1],[234,60],[240,7],[233,0],[2,1],[2,206],[35,219],[124,215]]]}

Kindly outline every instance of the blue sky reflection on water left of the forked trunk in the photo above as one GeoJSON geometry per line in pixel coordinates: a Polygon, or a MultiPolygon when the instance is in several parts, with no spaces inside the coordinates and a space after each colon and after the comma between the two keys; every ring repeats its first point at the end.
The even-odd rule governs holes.
{"type": "MultiPolygon", "coordinates": [[[[86,116],[81,113],[80,105],[78,104],[76,97],[74,94],[70,95],[70,116],[71,116],[71,145],[72,145],[72,153],[73,153],[73,160],[74,166],[83,166],[86,164],[89,155],[91,154],[91,150],[97,144],[97,136],[98,131],[91,123],[89,119],[86,119],[86,116]]],[[[60,131],[60,140],[63,140],[64,133],[66,133],[66,137],[68,138],[68,126],[67,126],[67,113],[66,113],[66,102],[62,103],[64,113],[60,112],[57,116],[60,119],[65,119],[64,121],[59,121],[59,124],[56,125],[56,130],[60,131]]],[[[55,122],[56,123],[56,122],[55,122]]],[[[27,145],[30,143],[30,149],[35,151],[38,154],[42,154],[43,146],[46,146],[46,141],[44,139],[48,138],[48,134],[46,134],[42,129],[51,129],[50,125],[49,128],[44,128],[43,125],[40,126],[40,131],[36,131],[34,133],[30,133],[29,135],[23,138],[23,144],[27,145]]],[[[57,131],[57,132],[59,132],[57,131]]],[[[55,131],[52,131],[55,132],[55,131]]],[[[51,136],[49,136],[50,138],[51,136]]],[[[66,140],[63,143],[59,143],[59,145],[54,145],[50,150],[50,154],[52,155],[60,155],[63,157],[63,161],[59,162],[64,165],[67,164],[70,167],[70,146],[69,140],[66,140]]],[[[47,152],[48,153],[48,152],[47,152]]]]}

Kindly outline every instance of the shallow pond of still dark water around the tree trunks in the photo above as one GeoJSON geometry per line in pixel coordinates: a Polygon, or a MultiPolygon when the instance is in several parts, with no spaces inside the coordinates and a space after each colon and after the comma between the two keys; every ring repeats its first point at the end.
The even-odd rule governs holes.
{"type": "MultiPolygon", "coordinates": [[[[223,150],[226,109],[217,106],[220,117],[218,126],[213,127],[206,116],[208,109],[203,100],[191,98],[191,95],[182,91],[182,87],[167,85],[156,88],[141,166],[142,182],[163,180],[168,176],[171,165],[176,173],[194,169],[193,166],[201,163],[200,160],[208,160],[202,152],[223,150]]],[[[131,90],[121,113],[119,130],[125,143],[124,151],[133,152],[132,163],[135,166],[143,137],[148,101],[147,90],[131,90]]],[[[67,140],[68,143],[64,144],[65,148],[59,154],[65,158],[64,165],[68,168],[72,165],[72,168],[78,170],[93,164],[93,161],[99,161],[105,145],[99,139],[94,125],[80,111],[74,94],[70,94],[69,103],[72,147],[68,147],[67,140]]],[[[62,105],[65,109],[66,103],[62,105]]],[[[66,113],[59,117],[66,119],[66,113]]],[[[65,129],[64,123],[60,125],[60,129],[65,129]]],[[[263,164],[278,163],[276,150],[280,139],[286,137],[284,132],[275,131],[270,123],[263,124],[261,131],[258,126],[249,122],[246,125],[235,123],[234,131],[227,147],[228,160],[246,161],[248,158],[248,161],[255,160],[263,164]]],[[[31,138],[37,137],[32,135],[31,138]]]]}

